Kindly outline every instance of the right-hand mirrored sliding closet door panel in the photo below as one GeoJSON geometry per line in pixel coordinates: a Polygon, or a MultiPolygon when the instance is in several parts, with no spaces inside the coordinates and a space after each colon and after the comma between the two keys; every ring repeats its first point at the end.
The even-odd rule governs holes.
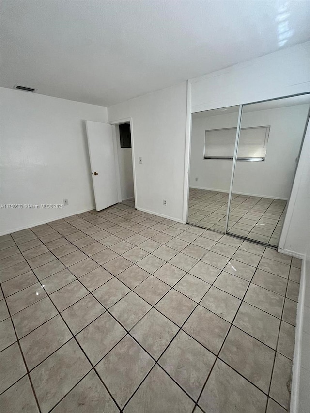
{"type": "Polygon", "coordinates": [[[243,106],[228,233],[279,244],[309,107],[309,94],[243,106]]]}

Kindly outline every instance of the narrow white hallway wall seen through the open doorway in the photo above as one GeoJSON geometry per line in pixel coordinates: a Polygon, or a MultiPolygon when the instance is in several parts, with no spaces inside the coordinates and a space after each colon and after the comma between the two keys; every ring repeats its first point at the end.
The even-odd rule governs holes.
{"type": "Polygon", "coordinates": [[[132,198],[135,195],[134,175],[132,168],[132,149],[121,148],[120,130],[118,125],[116,126],[116,145],[120,172],[121,199],[123,201],[124,199],[132,198]]]}

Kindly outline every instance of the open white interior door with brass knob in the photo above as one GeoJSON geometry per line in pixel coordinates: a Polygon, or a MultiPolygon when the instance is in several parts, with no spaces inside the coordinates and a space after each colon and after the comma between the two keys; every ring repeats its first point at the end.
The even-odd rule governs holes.
{"type": "Polygon", "coordinates": [[[118,202],[113,131],[107,123],[86,121],[96,210],[118,202]]]}

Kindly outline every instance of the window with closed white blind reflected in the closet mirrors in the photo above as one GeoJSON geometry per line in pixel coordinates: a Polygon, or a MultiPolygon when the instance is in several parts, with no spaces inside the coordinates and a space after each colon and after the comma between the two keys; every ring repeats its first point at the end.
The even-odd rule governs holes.
{"type": "MultiPolygon", "coordinates": [[[[263,161],[270,126],[241,128],[237,160],[263,161]]],[[[233,159],[237,128],[205,131],[205,159],[233,159]]]]}

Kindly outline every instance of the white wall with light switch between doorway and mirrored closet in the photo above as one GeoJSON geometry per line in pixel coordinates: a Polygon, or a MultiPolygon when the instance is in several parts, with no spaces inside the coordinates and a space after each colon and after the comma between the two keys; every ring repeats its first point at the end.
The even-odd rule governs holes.
{"type": "Polygon", "coordinates": [[[108,107],[109,122],[132,117],[138,209],[176,220],[183,214],[186,95],[181,83],[108,107]]]}

